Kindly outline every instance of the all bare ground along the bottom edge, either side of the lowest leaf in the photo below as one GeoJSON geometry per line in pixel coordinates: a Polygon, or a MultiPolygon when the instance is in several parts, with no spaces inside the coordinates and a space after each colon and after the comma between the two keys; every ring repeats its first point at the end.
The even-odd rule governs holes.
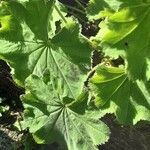
{"type": "MultiPolygon", "coordinates": [[[[111,137],[106,144],[99,146],[100,150],[150,150],[150,125],[148,123],[136,127],[121,126],[113,115],[107,115],[102,120],[110,127],[111,137]]],[[[10,125],[0,125],[0,149],[24,150],[23,143],[26,135],[10,125]]],[[[56,143],[51,145],[30,143],[29,150],[37,149],[59,150],[59,146],[56,143]]]]}

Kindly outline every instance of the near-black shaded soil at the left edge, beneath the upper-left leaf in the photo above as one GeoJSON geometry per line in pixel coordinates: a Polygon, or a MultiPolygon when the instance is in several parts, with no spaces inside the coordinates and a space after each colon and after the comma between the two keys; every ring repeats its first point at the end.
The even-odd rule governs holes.
{"type": "Polygon", "coordinates": [[[24,93],[24,89],[15,84],[10,71],[6,62],[0,60],[0,97],[3,98],[0,105],[9,105],[11,109],[23,109],[19,96],[24,93]]]}

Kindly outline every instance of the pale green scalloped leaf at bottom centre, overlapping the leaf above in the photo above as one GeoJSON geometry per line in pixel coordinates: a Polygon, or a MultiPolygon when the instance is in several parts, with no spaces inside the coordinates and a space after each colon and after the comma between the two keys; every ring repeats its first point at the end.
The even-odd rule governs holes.
{"type": "Polygon", "coordinates": [[[53,92],[53,82],[45,84],[35,75],[27,79],[26,89],[22,127],[29,127],[38,143],[57,141],[64,150],[96,150],[96,145],[108,140],[108,127],[85,111],[86,94],[76,100],[63,98],[53,92]]]}

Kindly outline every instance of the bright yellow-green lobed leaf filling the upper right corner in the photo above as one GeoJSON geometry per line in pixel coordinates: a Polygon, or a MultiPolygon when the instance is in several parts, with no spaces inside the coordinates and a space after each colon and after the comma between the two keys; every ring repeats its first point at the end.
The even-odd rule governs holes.
{"type": "Polygon", "coordinates": [[[119,9],[111,12],[113,6],[106,7],[107,10],[102,13],[105,20],[100,23],[101,29],[94,39],[98,44],[101,43],[106,55],[122,55],[126,58],[131,79],[149,80],[150,1],[112,1],[116,4],[121,2],[121,5],[119,9]]]}

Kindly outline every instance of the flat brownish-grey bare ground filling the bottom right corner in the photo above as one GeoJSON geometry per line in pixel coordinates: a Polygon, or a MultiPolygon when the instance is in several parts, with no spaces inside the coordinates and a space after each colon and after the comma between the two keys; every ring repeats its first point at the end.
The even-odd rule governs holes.
{"type": "Polygon", "coordinates": [[[108,143],[101,145],[100,150],[150,150],[150,124],[136,126],[119,125],[113,115],[102,119],[110,128],[108,143]]]}

